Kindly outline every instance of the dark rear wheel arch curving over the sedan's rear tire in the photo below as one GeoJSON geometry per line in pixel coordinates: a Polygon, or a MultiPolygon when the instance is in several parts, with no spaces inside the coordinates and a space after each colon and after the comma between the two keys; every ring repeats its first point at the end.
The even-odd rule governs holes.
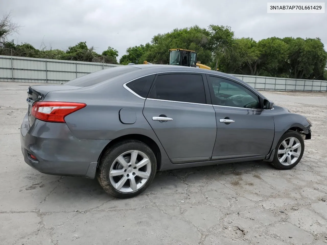
{"type": "Polygon", "coordinates": [[[114,146],[115,144],[123,141],[123,140],[127,140],[127,139],[135,139],[135,140],[139,140],[143,143],[145,143],[147,146],[149,146],[151,148],[151,150],[153,151],[154,155],[156,156],[156,160],[157,160],[157,171],[160,170],[161,168],[161,159],[162,159],[162,155],[161,155],[161,151],[159,146],[157,145],[157,143],[151,139],[148,136],[142,135],[142,134],[127,134],[127,135],[123,135],[120,137],[117,137],[113,140],[111,140],[106,146],[105,148],[101,151],[99,158],[98,158],[98,163],[96,166],[96,170],[99,167],[99,162],[101,157],[103,156],[103,154],[112,146],[114,146]]]}

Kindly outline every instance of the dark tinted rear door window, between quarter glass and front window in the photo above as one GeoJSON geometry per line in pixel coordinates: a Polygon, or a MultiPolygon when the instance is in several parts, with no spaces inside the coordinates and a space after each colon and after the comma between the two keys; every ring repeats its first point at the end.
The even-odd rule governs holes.
{"type": "Polygon", "coordinates": [[[206,104],[202,75],[159,75],[150,98],[206,104]]]}

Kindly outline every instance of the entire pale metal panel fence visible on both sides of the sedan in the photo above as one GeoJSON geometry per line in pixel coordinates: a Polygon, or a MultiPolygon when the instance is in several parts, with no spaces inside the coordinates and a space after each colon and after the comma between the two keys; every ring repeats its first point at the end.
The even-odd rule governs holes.
{"type": "MultiPolygon", "coordinates": [[[[62,83],[115,64],[0,56],[1,82],[62,83]]],[[[232,74],[257,90],[327,91],[327,81],[232,74]]]]}

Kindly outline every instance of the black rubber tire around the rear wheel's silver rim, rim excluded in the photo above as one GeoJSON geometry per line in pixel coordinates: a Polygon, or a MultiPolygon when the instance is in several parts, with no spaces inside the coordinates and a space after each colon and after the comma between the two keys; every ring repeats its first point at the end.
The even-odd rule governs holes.
{"type": "Polygon", "coordinates": [[[97,178],[99,180],[100,185],[107,193],[117,198],[130,198],[141,194],[146,188],[148,188],[148,186],[152,183],[155,177],[156,170],[157,170],[157,161],[151,148],[141,141],[130,140],[130,141],[121,142],[120,144],[116,145],[115,147],[112,147],[107,151],[107,153],[102,157],[100,161],[97,178]],[[112,186],[109,179],[109,171],[112,164],[114,164],[114,160],[119,155],[121,155],[126,151],[131,151],[131,150],[141,151],[149,157],[151,163],[151,173],[146,184],[143,187],[141,187],[136,191],[125,193],[116,190],[112,186]]]}

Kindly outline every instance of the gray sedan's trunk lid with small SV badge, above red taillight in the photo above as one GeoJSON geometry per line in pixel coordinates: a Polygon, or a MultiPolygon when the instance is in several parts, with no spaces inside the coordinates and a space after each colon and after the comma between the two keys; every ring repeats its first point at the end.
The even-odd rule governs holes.
{"type": "Polygon", "coordinates": [[[27,103],[28,103],[28,122],[32,126],[35,117],[32,116],[31,110],[35,102],[43,101],[48,92],[60,91],[60,90],[73,90],[80,89],[82,87],[68,86],[68,85],[35,85],[29,86],[27,89],[27,103]]]}

